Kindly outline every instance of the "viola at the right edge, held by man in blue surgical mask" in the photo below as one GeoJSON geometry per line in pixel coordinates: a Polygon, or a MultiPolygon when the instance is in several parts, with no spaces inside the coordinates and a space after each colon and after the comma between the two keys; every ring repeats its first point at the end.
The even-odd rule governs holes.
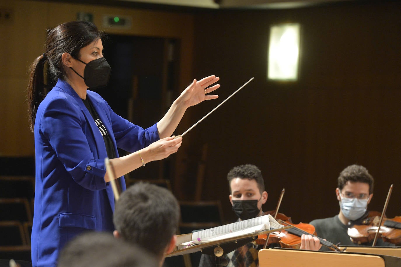
{"type": "MultiPolygon", "coordinates": [[[[352,242],[363,244],[371,242],[379,229],[379,212],[370,212],[366,219],[352,222],[348,228],[348,235],[352,242]]],[[[393,219],[383,217],[378,237],[383,241],[393,244],[401,244],[401,216],[395,216],[393,219]]]]}

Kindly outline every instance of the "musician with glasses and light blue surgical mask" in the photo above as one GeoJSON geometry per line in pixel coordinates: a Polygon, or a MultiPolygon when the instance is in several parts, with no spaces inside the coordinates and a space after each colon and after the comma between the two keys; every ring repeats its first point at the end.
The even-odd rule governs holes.
{"type": "MultiPolygon", "coordinates": [[[[373,197],[374,179],[368,170],[360,165],[346,167],[338,177],[336,197],[340,205],[340,212],[334,217],[316,219],[310,222],[316,229],[318,237],[330,240],[341,246],[371,245],[371,243],[352,243],[348,236],[348,227],[354,221],[368,217],[368,204],[373,197]]],[[[377,246],[394,246],[382,239],[377,240],[377,246]]],[[[322,247],[320,250],[328,250],[322,247]]]]}

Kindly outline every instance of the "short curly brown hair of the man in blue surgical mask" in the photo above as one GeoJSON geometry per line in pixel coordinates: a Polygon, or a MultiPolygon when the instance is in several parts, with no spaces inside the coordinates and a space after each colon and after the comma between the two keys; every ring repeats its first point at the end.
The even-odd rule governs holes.
{"type": "Polygon", "coordinates": [[[344,185],[348,182],[360,182],[367,183],[369,185],[369,194],[373,193],[373,184],[375,180],[372,175],[368,172],[368,170],[361,165],[350,165],[346,167],[340,173],[340,176],[337,179],[337,187],[340,191],[344,188],[344,185]]]}

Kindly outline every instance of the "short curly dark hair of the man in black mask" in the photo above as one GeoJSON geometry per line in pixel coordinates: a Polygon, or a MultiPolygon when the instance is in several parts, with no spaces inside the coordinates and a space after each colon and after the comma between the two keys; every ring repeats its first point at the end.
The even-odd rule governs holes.
{"type": "Polygon", "coordinates": [[[231,192],[231,181],[234,178],[255,180],[260,193],[265,191],[265,182],[263,181],[262,172],[258,167],[252,164],[245,164],[233,167],[227,174],[228,187],[231,192]]]}

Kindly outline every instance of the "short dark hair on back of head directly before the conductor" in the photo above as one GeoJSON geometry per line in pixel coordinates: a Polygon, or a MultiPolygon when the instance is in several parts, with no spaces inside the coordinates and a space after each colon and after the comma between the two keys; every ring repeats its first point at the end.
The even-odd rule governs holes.
{"type": "Polygon", "coordinates": [[[168,189],[140,182],[121,194],[115,204],[113,222],[124,240],[161,259],[177,231],[179,217],[178,201],[168,189]]]}

